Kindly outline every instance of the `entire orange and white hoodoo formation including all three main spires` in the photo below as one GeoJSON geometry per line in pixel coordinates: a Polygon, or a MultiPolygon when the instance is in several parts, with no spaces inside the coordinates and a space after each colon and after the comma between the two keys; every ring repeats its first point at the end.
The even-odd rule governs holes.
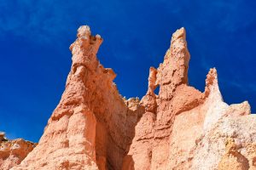
{"type": "Polygon", "coordinates": [[[254,169],[250,105],[224,103],[215,69],[205,92],[189,86],[185,39],[184,28],[173,33],[163,63],[149,69],[147,94],[126,100],[113,83],[113,70],[96,58],[102,37],[81,26],[70,46],[73,64],[61,101],[38,146],[12,169],[208,170],[230,162],[254,169]]]}

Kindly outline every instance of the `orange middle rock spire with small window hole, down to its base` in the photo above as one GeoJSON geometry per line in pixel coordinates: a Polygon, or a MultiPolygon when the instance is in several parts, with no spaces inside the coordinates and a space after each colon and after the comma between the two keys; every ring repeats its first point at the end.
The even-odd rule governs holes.
{"type": "Polygon", "coordinates": [[[135,138],[125,157],[123,169],[129,167],[129,163],[135,169],[165,169],[175,116],[196,107],[203,98],[201,92],[187,85],[190,55],[185,38],[184,28],[174,32],[164,62],[156,71],[149,71],[148,93],[142,99],[146,113],[137,123],[135,138]],[[160,86],[160,92],[153,98],[152,92],[157,86],[160,86]],[[129,157],[133,159],[128,163],[129,157]]]}

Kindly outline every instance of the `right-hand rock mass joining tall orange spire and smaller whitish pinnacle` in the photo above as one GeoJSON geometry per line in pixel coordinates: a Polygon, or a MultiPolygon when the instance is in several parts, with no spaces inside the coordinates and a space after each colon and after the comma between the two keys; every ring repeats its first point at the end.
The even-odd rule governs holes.
{"type": "MultiPolygon", "coordinates": [[[[152,92],[154,91],[152,88],[160,86],[160,93],[158,95],[147,93],[142,99],[146,113],[135,127],[135,138],[125,158],[126,160],[129,158],[130,161],[129,163],[125,161],[123,164],[124,170],[217,169],[221,157],[224,156],[225,141],[232,136],[222,134],[223,138],[220,138],[213,136],[213,133],[237,132],[234,139],[255,142],[256,130],[253,129],[253,123],[248,122],[254,122],[256,117],[246,116],[251,113],[250,105],[247,101],[238,105],[224,103],[218,88],[215,68],[207,75],[204,93],[189,86],[189,52],[185,37],[183,28],[172,35],[171,47],[166,52],[163,64],[160,64],[156,70],[156,78],[150,79],[152,74],[149,74],[148,80],[151,81],[148,81],[148,91],[152,92]],[[155,82],[153,83],[152,80],[155,82]],[[149,96],[155,97],[149,98],[149,96]],[[154,102],[156,102],[155,112],[147,109],[154,102]],[[247,122],[240,123],[236,120],[240,116],[247,122]],[[222,122],[227,120],[234,123],[228,129],[222,122]],[[247,129],[243,128],[245,126],[247,129]],[[235,127],[238,129],[232,129],[235,127]],[[243,131],[251,136],[239,133],[243,131]]],[[[245,147],[246,145],[241,147],[241,150],[246,150],[245,147]]],[[[244,159],[253,161],[253,158],[249,157],[253,156],[244,159]]],[[[241,156],[237,159],[241,159],[241,156]]]]}

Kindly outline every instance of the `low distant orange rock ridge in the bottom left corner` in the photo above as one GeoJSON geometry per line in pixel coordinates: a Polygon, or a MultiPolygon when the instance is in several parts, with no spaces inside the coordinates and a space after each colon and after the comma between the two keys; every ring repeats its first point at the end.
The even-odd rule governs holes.
{"type": "Polygon", "coordinates": [[[9,140],[0,132],[0,169],[9,170],[20,162],[33,150],[36,144],[23,140],[9,140]]]}

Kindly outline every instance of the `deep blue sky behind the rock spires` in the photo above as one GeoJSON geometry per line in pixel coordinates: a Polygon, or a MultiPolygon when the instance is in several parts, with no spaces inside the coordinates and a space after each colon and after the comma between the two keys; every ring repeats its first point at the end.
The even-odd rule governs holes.
{"type": "Polygon", "coordinates": [[[146,93],[149,66],[159,65],[172,32],[184,26],[190,84],[203,91],[214,66],[225,101],[247,99],[256,112],[255,8],[254,0],[0,0],[0,131],[38,141],[81,25],[103,37],[98,58],[117,73],[126,98],[146,93]]]}

